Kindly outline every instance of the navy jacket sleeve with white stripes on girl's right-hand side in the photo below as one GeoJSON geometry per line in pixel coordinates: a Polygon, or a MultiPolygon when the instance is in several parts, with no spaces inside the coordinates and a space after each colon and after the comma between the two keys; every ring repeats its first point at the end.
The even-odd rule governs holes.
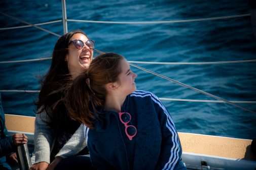
{"type": "Polygon", "coordinates": [[[169,111],[157,98],[155,104],[162,132],[161,152],[156,169],[175,169],[181,156],[181,145],[169,111]]]}

